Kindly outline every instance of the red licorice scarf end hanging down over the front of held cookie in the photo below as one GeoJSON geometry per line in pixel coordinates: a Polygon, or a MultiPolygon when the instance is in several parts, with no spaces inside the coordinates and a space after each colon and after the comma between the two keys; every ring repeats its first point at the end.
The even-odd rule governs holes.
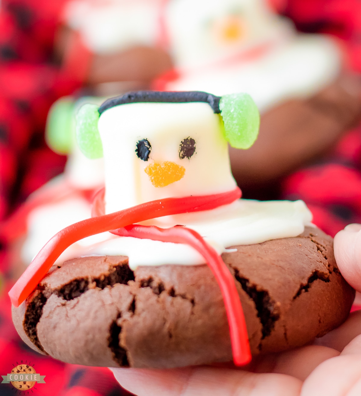
{"type": "Polygon", "coordinates": [[[228,318],[234,364],[244,366],[251,361],[246,320],[234,278],[219,254],[198,232],[185,227],[159,228],[143,225],[130,225],[111,232],[119,236],[184,243],[196,249],[206,260],[221,289],[228,318]]]}

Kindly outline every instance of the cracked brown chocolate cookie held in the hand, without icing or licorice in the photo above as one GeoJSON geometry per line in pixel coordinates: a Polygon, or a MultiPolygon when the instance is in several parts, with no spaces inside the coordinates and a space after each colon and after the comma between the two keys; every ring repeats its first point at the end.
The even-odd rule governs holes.
{"type": "MultiPolygon", "coordinates": [[[[347,318],[355,296],[333,240],[306,227],[295,238],[224,253],[246,317],[253,356],[301,346],[347,318]]],[[[54,266],[13,308],[22,339],[64,362],[181,367],[232,360],[217,282],[207,265],[128,267],[127,257],[54,266]]]]}

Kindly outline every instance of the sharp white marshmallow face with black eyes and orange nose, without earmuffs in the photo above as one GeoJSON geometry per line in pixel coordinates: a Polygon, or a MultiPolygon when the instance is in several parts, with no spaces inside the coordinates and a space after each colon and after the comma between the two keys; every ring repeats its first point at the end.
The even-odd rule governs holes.
{"type": "Polygon", "coordinates": [[[106,213],[235,188],[222,126],[207,103],[129,103],[104,111],[98,129],[106,213]]]}

